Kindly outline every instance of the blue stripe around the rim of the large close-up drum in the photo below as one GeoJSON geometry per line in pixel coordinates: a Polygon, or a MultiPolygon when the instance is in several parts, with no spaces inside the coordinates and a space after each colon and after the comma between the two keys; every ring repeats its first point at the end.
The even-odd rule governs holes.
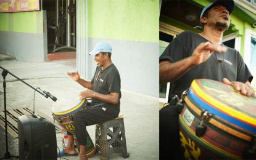
{"type": "Polygon", "coordinates": [[[249,130],[250,132],[256,133],[256,128],[253,126],[250,126],[250,124],[247,124],[245,122],[239,121],[239,119],[236,119],[226,113],[221,112],[217,108],[214,108],[213,106],[209,105],[209,103],[204,102],[201,98],[197,97],[197,95],[193,92],[193,90],[189,89],[189,97],[197,103],[200,107],[202,107],[204,110],[209,111],[213,115],[216,115],[220,117],[221,119],[225,119],[228,122],[231,122],[235,124],[236,126],[242,127],[243,129],[249,130]]]}

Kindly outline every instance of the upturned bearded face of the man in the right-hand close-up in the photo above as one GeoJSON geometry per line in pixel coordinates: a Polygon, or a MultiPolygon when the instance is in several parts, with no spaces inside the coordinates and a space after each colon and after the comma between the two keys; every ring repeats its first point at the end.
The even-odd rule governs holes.
{"type": "Polygon", "coordinates": [[[207,23],[213,23],[215,26],[221,26],[225,30],[230,25],[229,12],[225,6],[216,4],[208,11],[207,23]]]}

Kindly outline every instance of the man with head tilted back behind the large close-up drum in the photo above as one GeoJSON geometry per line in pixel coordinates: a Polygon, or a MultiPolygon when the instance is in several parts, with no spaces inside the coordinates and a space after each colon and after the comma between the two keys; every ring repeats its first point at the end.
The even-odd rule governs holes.
{"type": "Polygon", "coordinates": [[[184,31],[170,42],[159,60],[159,81],[171,82],[170,104],[159,113],[160,159],[180,159],[177,100],[174,95],[188,89],[193,79],[213,79],[231,85],[242,95],[250,89],[252,74],[239,52],[222,43],[230,25],[234,1],[214,1],[200,14],[202,32],[184,31]]]}

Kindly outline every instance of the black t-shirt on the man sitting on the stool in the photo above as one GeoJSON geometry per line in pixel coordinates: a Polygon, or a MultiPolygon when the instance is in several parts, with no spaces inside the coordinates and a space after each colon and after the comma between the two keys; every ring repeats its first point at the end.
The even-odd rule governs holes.
{"type": "Polygon", "coordinates": [[[110,104],[102,102],[97,98],[92,98],[92,105],[97,105],[99,103],[105,103],[104,107],[107,107],[108,110],[112,111],[120,111],[120,98],[121,98],[121,79],[120,74],[112,63],[112,65],[107,66],[104,70],[101,70],[101,66],[97,66],[96,71],[94,73],[93,79],[93,91],[98,92],[100,94],[109,94],[110,92],[116,92],[119,94],[118,103],[110,104]],[[97,75],[101,71],[99,78],[97,79],[97,75]]]}

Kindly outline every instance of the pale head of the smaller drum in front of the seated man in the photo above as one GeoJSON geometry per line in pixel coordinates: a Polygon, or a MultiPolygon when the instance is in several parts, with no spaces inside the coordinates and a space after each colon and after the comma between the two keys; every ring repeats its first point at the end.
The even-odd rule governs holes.
{"type": "Polygon", "coordinates": [[[86,99],[81,100],[79,97],[59,98],[52,106],[52,113],[57,117],[68,116],[79,111],[86,103],[86,99]]]}

